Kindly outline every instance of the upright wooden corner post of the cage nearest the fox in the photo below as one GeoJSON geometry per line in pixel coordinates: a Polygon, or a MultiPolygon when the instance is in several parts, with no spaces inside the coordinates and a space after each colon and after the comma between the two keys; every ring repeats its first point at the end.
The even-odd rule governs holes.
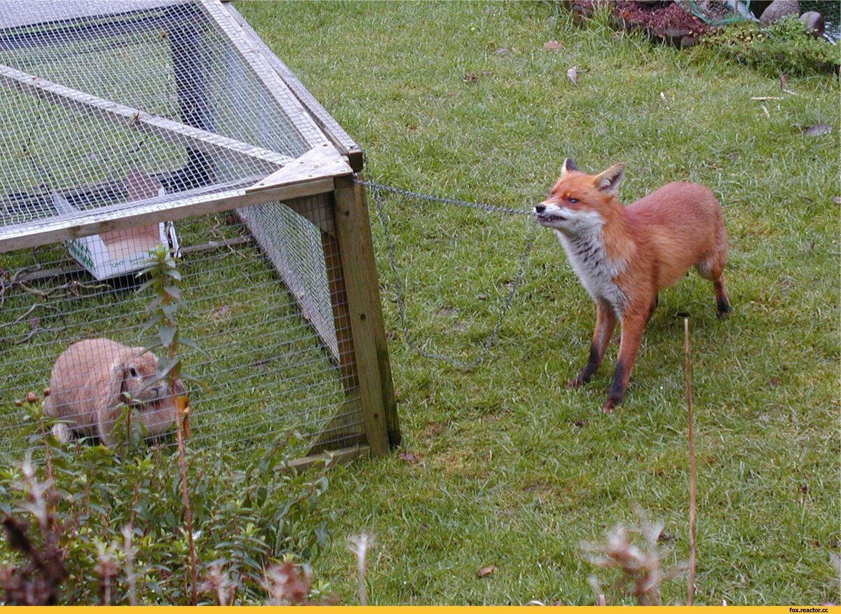
{"type": "Polygon", "coordinates": [[[362,419],[373,455],[399,444],[400,431],[389,350],[380,304],[377,263],[365,190],[353,177],[336,177],[336,239],[357,363],[362,419]]]}

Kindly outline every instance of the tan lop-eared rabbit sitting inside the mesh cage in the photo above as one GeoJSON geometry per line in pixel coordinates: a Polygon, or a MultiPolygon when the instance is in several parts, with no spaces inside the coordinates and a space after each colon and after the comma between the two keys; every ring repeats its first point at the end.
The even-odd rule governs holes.
{"type": "Polygon", "coordinates": [[[68,347],[50,375],[47,416],[58,418],[53,435],[60,442],[78,436],[99,437],[106,446],[123,406],[136,405],[149,435],[166,431],[175,421],[174,396],[187,391],[176,380],[175,395],[165,380],[156,379],[157,358],[142,347],[126,347],[109,339],[86,339],[68,347]]]}

